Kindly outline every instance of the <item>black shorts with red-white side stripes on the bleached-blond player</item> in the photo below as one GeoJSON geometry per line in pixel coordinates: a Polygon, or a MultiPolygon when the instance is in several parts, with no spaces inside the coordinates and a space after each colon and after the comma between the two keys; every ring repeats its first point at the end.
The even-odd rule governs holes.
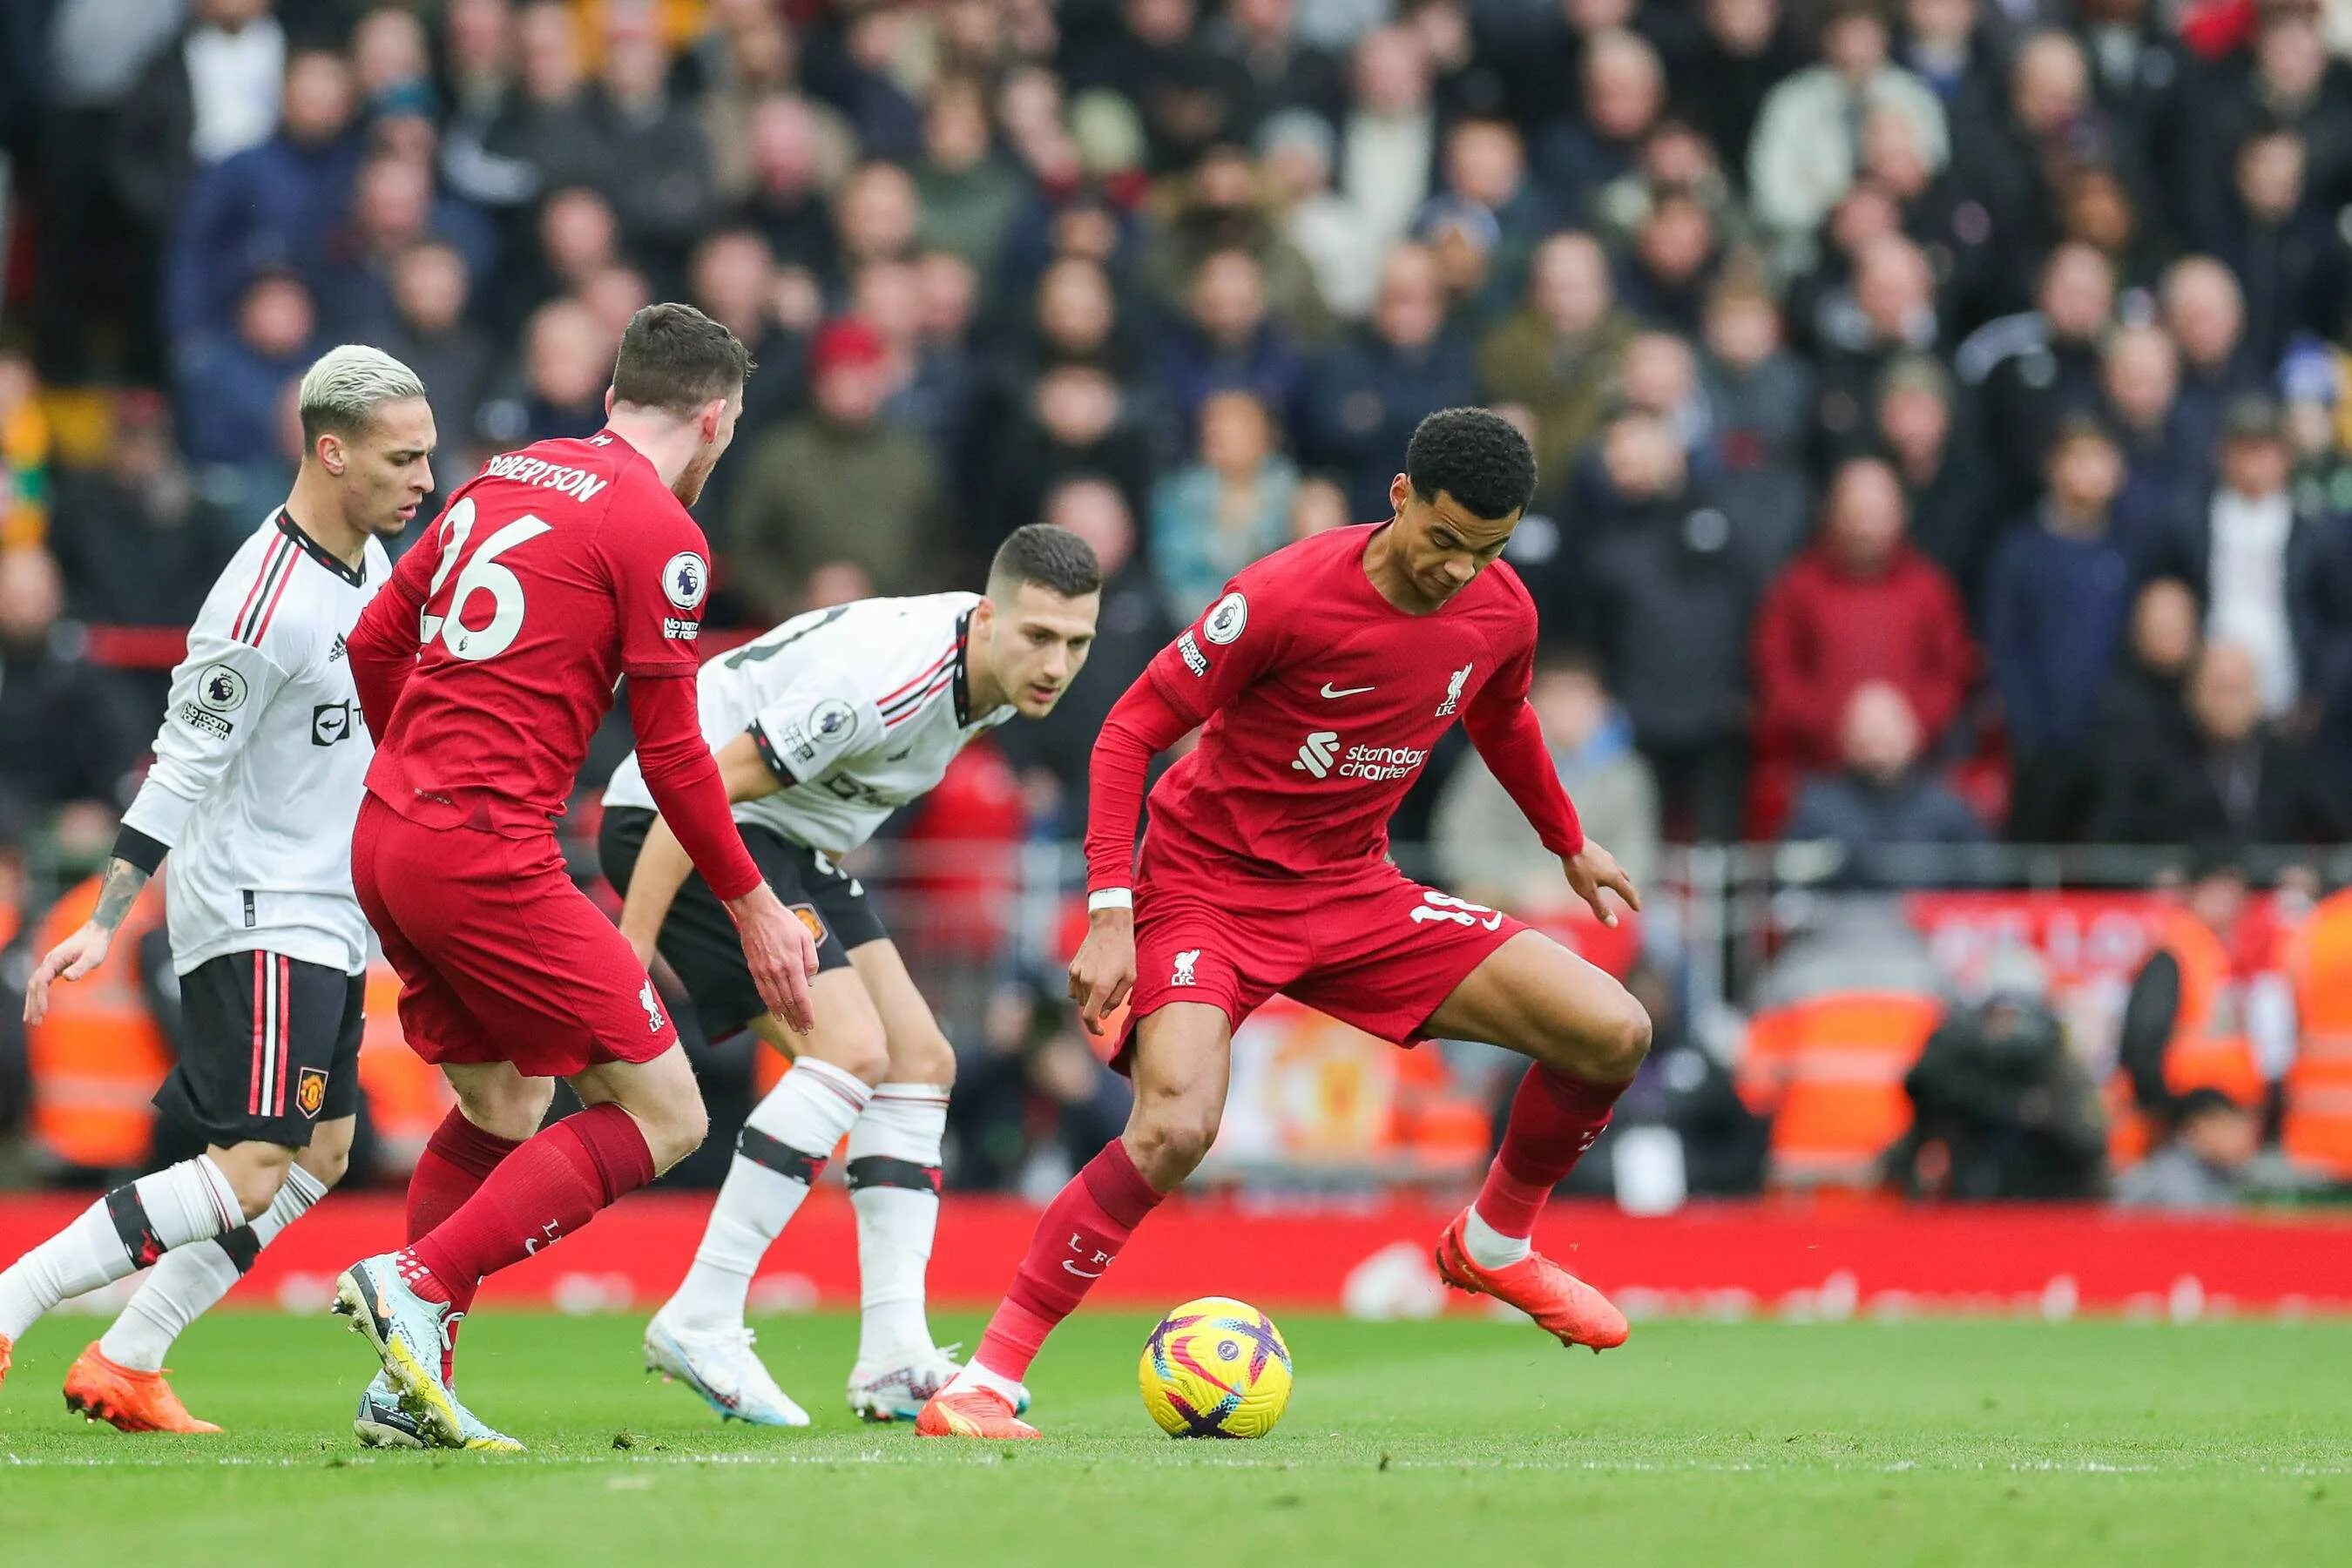
{"type": "Polygon", "coordinates": [[[310,1145],[360,1110],[367,976],[282,952],[223,952],[179,978],[179,1065],[155,1110],[216,1145],[310,1145]]]}

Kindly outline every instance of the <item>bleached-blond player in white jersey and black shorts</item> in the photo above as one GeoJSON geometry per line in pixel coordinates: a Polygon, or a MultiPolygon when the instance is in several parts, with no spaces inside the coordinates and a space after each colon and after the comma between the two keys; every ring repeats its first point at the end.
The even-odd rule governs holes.
{"type": "Polygon", "coordinates": [[[343,635],[390,574],[381,541],[433,491],[433,411],[409,367],[360,346],[320,357],[299,400],[294,491],[188,628],[99,905],[26,992],[38,1020],[52,983],[96,969],[169,856],[183,1044],[155,1105],[207,1150],[108,1192],[0,1272],[5,1380],[40,1314],[153,1265],[66,1375],[71,1408],[125,1432],[219,1432],[165,1382],[165,1349],[343,1175],[358,1119],[367,922],[350,827],[374,745],[343,635]]]}

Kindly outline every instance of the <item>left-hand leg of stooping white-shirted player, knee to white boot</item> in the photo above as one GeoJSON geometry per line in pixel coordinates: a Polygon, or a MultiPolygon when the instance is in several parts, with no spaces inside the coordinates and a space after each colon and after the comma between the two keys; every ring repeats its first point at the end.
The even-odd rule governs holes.
{"type": "Polygon", "coordinates": [[[774,1018],[753,1020],[793,1070],[753,1107],[710,1222],[677,1293],[644,1326],[647,1371],[675,1378],[724,1420],[807,1427],[802,1410],[767,1373],[743,1324],[760,1258],[809,1197],[842,1135],[858,1121],[882,1077],[882,1020],[851,969],[811,983],[816,1027],[793,1034],[774,1018]]]}

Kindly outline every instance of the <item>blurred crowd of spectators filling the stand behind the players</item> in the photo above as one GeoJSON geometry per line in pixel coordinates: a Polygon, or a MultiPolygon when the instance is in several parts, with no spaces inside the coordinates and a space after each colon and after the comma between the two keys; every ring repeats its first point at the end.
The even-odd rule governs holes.
{"type": "MultiPolygon", "coordinates": [[[[760,362],[713,625],[1108,569],[1002,736],[1484,402],[1592,835],[2352,835],[2352,63],[2317,0],[12,0],[0,842],[101,851],[339,341],[442,487],[602,423],[628,317],[760,362]],[[129,663],[136,663],[132,658],[129,663]],[[165,661],[167,663],[167,661],[165,661]]],[[[623,743],[626,748],[626,743],[623,743]]],[[[619,755],[614,750],[612,755],[619,755]]],[[[1475,757],[1399,839],[1512,893],[1475,757]]],[[[1082,1100],[1084,1095],[1073,1095],[1082,1100]]]]}

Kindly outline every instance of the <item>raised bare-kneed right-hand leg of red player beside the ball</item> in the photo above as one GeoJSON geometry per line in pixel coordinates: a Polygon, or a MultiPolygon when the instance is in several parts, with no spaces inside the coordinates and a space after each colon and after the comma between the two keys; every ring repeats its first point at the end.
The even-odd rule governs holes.
{"type": "Polygon", "coordinates": [[[1477,1201],[1437,1241],[1437,1272],[1505,1300],[1562,1345],[1625,1342],[1625,1314],[1534,1251],[1536,1215],[1649,1053],[1649,1013],[1611,976],[1536,931],[1496,947],[1430,1016],[1430,1034],[1534,1058],[1477,1201]]]}

